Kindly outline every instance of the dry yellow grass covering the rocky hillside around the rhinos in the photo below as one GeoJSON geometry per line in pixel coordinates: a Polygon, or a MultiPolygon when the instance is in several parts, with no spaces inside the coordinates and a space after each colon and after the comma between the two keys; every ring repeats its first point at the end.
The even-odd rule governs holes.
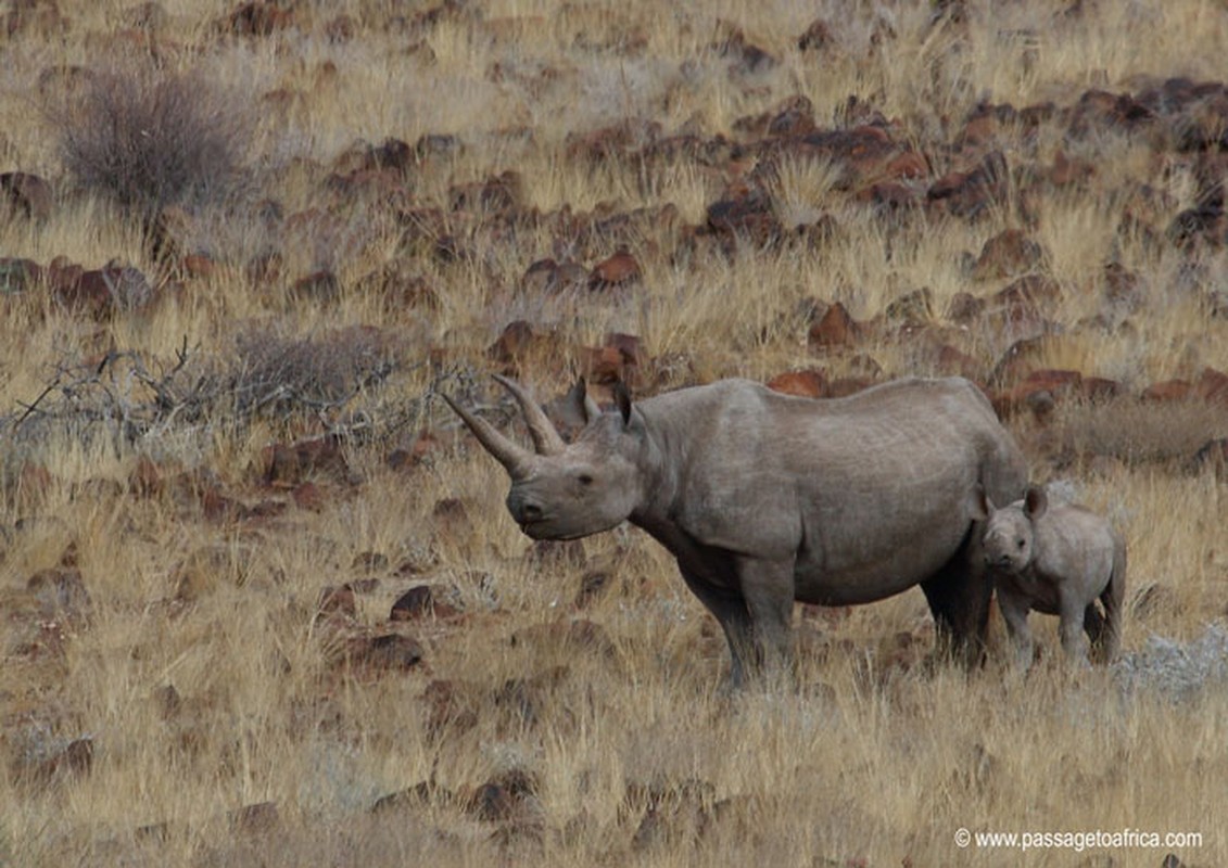
{"type": "MultiPolygon", "coordinates": [[[[933,358],[890,334],[855,350],[815,351],[806,338],[814,300],[869,320],[921,289],[936,331],[987,373],[1013,335],[960,329],[946,312],[957,293],[1007,282],[977,281],[964,263],[1023,222],[1014,187],[975,221],[893,221],[841,187],[839,167],[791,156],[769,184],[772,214],[788,230],[830,217],[830,237],[727,255],[685,248],[683,227],[745,180],[753,156],[591,160],[577,142],[612,128],[639,145],[652,123],[737,139],[738,119],[798,96],[818,126],[844,126],[857,122],[856,95],[938,176],[966,168],[948,144],[982,101],[1066,107],[1093,86],[1223,75],[1222,2],[1082,6],[1062,17],[1054,4],[969,2],[959,25],[936,23],[930,2],[853,12],[834,1],[506,0],[424,18],[429,4],[348,0],[296,4],[289,27],[239,37],[222,32],[237,5],[165,0],[144,31],[122,2],[60,2],[63,21],[48,12],[15,27],[0,169],[50,178],[56,198],[41,223],[0,217],[0,252],[86,268],[118,258],[156,276],[168,301],[93,320],[37,291],[0,300],[0,864],[1154,868],[1168,852],[960,850],[960,827],[1195,831],[1200,846],[1174,848],[1186,866],[1228,861],[1223,683],[1174,699],[1163,684],[1126,691],[1110,672],[1068,672],[1054,659],[1055,619],[1035,615],[1045,656],[1027,678],[997,654],[971,675],[935,667],[928,614],[910,592],[798,613],[797,684],[729,699],[723,640],[667,552],[626,529],[578,551],[534,550],[506,516],[496,468],[431,398],[475,374],[483,383],[486,347],[512,319],[555,335],[524,371],[543,395],[581,366],[577,345],[612,330],[669,360],[645,388],[814,366],[858,373],[860,352],[883,376],[928,373],[933,358]],[[803,53],[798,36],[817,17],[831,42],[803,53]],[[777,63],[739,68],[738,29],[777,63]],[[181,253],[208,257],[209,274],[161,270],[138,221],[72,192],[63,124],[29,110],[71,92],[74,64],[108,52],[140,55],[154,81],[203,75],[242,95],[237,112],[255,106],[243,195],[188,203],[190,225],[174,237],[181,253]],[[413,219],[334,177],[360,168],[367,144],[429,134],[454,146],[397,173],[413,219]],[[507,169],[537,216],[451,207],[453,188],[507,169]],[[667,204],[673,223],[577,228],[585,215],[667,204]],[[430,209],[459,258],[415,232],[430,209]],[[618,243],[641,265],[634,287],[522,289],[538,259],[589,268],[618,243]],[[280,274],[253,277],[270,250],[280,274]],[[319,269],[335,293],[295,290],[319,269]],[[372,279],[384,270],[394,276],[372,279]],[[433,301],[406,295],[411,280],[433,301]],[[185,346],[193,363],[174,383],[183,408],[200,399],[192,413],[158,404],[134,363],[88,381],[111,351],[157,374],[185,346]],[[71,388],[16,424],[56,376],[71,388]],[[117,428],[97,410],[119,405],[147,424],[117,428]],[[437,441],[422,462],[388,460],[422,431],[437,441]],[[344,469],[305,470],[322,496],[300,502],[303,480],[271,478],[266,449],[328,432],[345,435],[344,469]],[[157,485],[142,481],[147,458],[157,485]],[[79,571],[80,586],[31,581],[48,570],[79,571]],[[577,609],[593,572],[608,584],[577,609]],[[359,588],[354,613],[321,616],[322,594],[345,583],[359,588]],[[422,583],[449,588],[463,614],[389,622],[392,603],[422,583]],[[577,619],[592,632],[569,634],[577,619]],[[382,672],[351,659],[355,642],[384,632],[416,638],[421,662],[382,672]],[[488,782],[513,794],[496,819],[472,798],[488,782]],[[253,808],[264,803],[275,816],[253,808]]],[[[0,14],[32,15],[18,7],[0,14]]],[[[190,101],[177,106],[188,114],[174,117],[201,123],[190,101]]],[[[1127,393],[1060,405],[1046,425],[1011,424],[1038,479],[1127,537],[1126,653],[1148,653],[1151,636],[1195,642],[1226,615],[1228,497],[1187,459],[1228,436],[1228,420],[1200,401],[1133,397],[1228,371],[1228,324],[1207,304],[1226,253],[1184,253],[1119,226],[1146,185],[1157,194],[1143,216],[1162,233],[1199,193],[1192,163],[1108,128],[995,135],[1014,167],[1050,166],[1059,151],[1095,163],[1076,193],[1044,195],[1028,226],[1062,290],[1045,312],[1062,328],[1034,366],[1110,377],[1127,393]],[[1081,327],[1104,313],[1106,262],[1140,276],[1137,307],[1125,325],[1081,327]]]]}

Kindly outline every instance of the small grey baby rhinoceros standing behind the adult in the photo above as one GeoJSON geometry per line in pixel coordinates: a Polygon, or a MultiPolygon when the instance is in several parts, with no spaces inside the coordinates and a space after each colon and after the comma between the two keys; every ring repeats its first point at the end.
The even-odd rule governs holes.
{"type": "Polygon", "coordinates": [[[1068,658],[1087,662],[1079,635],[1086,631],[1097,658],[1111,661],[1121,642],[1126,544],[1109,522],[1073,503],[1050,503],[1045,490],[1034,485],[1023,500],[1001,510],[981,491],[974,514],[985,522],[986,566],[995,573],[998,609],[1024,668],[1033,657],[1033,609],[1061,619],[1059,634],[1068,658]]]}

